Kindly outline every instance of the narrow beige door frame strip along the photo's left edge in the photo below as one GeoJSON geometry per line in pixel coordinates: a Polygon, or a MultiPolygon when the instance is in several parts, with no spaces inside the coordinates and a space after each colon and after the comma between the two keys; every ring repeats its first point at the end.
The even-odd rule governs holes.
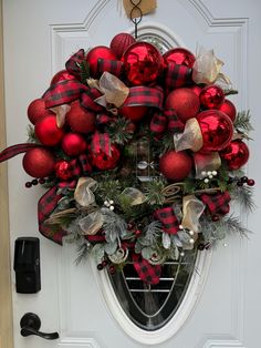
{"type": "MultiPolygon", "coordinates": [[[[4,90],[3,90],[3,30],[2,0],[0,0],[0,150],[6,146],[4,90]]],[[[8,211],[7,164],[0,166],[0,347],[13,348],[12,291],[10,264],[10,235],[8,211]]]]}

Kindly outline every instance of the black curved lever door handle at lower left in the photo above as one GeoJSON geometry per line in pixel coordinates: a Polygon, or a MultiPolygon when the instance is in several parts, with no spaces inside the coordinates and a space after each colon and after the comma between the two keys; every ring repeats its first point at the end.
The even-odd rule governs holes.
{"type": "Polygon", "coordinates": [[[58,339],[59,338],[59,332],[44,334],[44,332],[39,331],[41,327],[41,320],[39,316],[36,316],[33,313],[24,314],[24,316],[22,317],[20,321],[20,327],[21,327],[21,335],[23,337],[35,335],[44,339],[58,339]]]}

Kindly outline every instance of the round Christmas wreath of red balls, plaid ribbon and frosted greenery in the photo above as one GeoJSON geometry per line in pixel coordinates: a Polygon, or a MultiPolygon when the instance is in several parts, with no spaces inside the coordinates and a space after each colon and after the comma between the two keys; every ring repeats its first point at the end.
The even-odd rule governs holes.
{"type": "Polygon", "coordinates": [[[231,199],[253,207],[242,172],[250,114],[226,98],[237,91],[222,64],[212,51],[161,54],[127,33],[73,54],[29,105],[29,142],[0,153],[25,152],[25,186],[48,188],[39,231],[69,236],[77,260],[91,253],[111,274],[130,263],[148,284],[166,260],[244,235],[229,209],[231,199]]]}

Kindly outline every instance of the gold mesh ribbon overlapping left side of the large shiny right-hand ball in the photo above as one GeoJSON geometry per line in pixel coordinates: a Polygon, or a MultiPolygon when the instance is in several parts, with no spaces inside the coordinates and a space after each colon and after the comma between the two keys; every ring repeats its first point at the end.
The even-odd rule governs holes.
{"type": "Polygon", "coordinates": [[[186,122],[184,133],[174,135],[174,144],[176,151],[191,149],[197,152],[202,147],[202,134],[197,119],[189,119],[186,122]]]}

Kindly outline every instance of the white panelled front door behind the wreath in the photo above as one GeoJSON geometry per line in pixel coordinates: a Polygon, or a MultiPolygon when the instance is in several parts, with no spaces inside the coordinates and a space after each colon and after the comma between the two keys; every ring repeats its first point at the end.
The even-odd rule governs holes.
{"type": "MultiPolygon", "coordinates": [[[[73,52],[108,45],[116,33],[132,29],[119,10],[119,2],[3,0],[8,145],[27,140],[28,104],[42,95],[52,75],[63,69],[73,52]]],[[[185,45],[194,52],[197,44],[213,49],[226,62],[223,71],[239,90],[239,95],[233,98],[238,110],[251,109],[258,130],[261,122],[260,13],[258,0],[159,0],[155,13],[144,17],[140,32],[156,33],[170,44],[185,45]]],[[[249,173],[259,182],[258,132],[254,139],[250,144],[249,173]]],[[[200,274],[195,282],[199,287],[191,287],[191,296],[197,297],[195,306],[184,304],[182,313],[171,323],[182,326],[173,337],[166,334],[168,339],[160,342],[164,339],[160,332],[135,330],[124,321],[124,316],[117,315],[117,306],[108,305],[114,298],[101,286],[95,268],[90,263],[75,266],[73,246],[60,247],[38,233],[36,202],[42,191],[25,190],[28,180],[21,157],[12,158],[9,162],[11,249],[18,237],[40,237],[42,280],[40,293],[17,294],[12,273],[15,348],[132,348],[145,347],[146,342],[161,348],[260,347],[258,214],[249,217],[249,228],[255,233],[249,240],[232,236],[213,250],[203,288],[200,274]],[[60,338],[22,337],[20,319],[25,313],[38,314],[42,320],[40,330],[59,331],[60,338]]],[[[260,198],[257,190],[257,204],[261,203],[260,198]]],[[[243,213],[242,221],[247,223],[243,213]]],[[[191,303],[191,298],[186,300],[191,303]]]]}

